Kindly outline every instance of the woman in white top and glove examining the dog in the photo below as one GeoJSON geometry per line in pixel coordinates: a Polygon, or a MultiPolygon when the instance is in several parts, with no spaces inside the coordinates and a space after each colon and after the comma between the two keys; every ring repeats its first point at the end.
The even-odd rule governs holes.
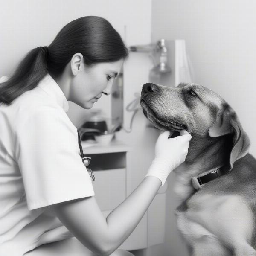
{"type": "Polygon", "coordinates": [[[79,155],[68,100],[90,109],[128,56],[120,35],[96,16],[64,26],[0,82],[0,255],[128,256],[116,250],[157,190],[185,160],[191,136],[161,134],[147,175],[104,218],[79,155]]]}

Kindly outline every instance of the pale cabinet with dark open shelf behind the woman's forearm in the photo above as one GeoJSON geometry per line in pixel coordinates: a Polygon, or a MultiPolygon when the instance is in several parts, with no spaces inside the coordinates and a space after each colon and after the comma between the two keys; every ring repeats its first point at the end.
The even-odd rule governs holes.
{"type": "MultiPolygon", "coordinates": [[[[95,181],[93,189],[96,200],[105,217],[129,195],[129,151],[131,148],[117,140],[110,144],[81,142],[84,155],[91,157],[90,169],[95,181]]],[[[119,247],[136,250],[147,247],[147,215],[144,215],[128,239],[119,247]]]]}

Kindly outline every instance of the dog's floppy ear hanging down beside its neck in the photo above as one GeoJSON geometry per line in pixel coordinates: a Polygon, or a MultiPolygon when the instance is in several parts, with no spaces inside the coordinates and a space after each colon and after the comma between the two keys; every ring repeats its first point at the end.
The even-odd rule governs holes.
{"type": "Polygon", "coordinates": [[[215,123],[209,128],[210,137],[219,137],[225,134],[232,134],[233,136],[233,146],[230,153],[230,167],[233,168],[234,162],[248,153],[250,140],[243,130],[236,112],[228,104],[224,104],[217,111],[215,123]]]}

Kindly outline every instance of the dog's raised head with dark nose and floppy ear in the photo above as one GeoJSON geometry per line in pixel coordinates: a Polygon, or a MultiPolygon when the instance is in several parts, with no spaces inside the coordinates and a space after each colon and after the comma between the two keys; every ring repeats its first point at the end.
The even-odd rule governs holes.
{"type": "Polygon", "coordinates": [[[233,146],[230,166],[247,154],[250,141],[235,111],[217,93],[198,84],[180,83],[166,87],[147,83],[141,92],[144,115],[156,128],[180,131],[205,140],[230,134],[233,146]]]}

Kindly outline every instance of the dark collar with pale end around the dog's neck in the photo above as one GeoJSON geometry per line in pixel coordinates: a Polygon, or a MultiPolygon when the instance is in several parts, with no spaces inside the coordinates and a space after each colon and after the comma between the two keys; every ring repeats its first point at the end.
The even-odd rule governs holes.
{"type": "Polygon", "coordinates": [[[230,171],[228,166],[221,166],[207,172],[203,172],[200,176],[192,177],[192,185],[195,189],[201,189],[205,183],[214,180],[230,171]]]}

